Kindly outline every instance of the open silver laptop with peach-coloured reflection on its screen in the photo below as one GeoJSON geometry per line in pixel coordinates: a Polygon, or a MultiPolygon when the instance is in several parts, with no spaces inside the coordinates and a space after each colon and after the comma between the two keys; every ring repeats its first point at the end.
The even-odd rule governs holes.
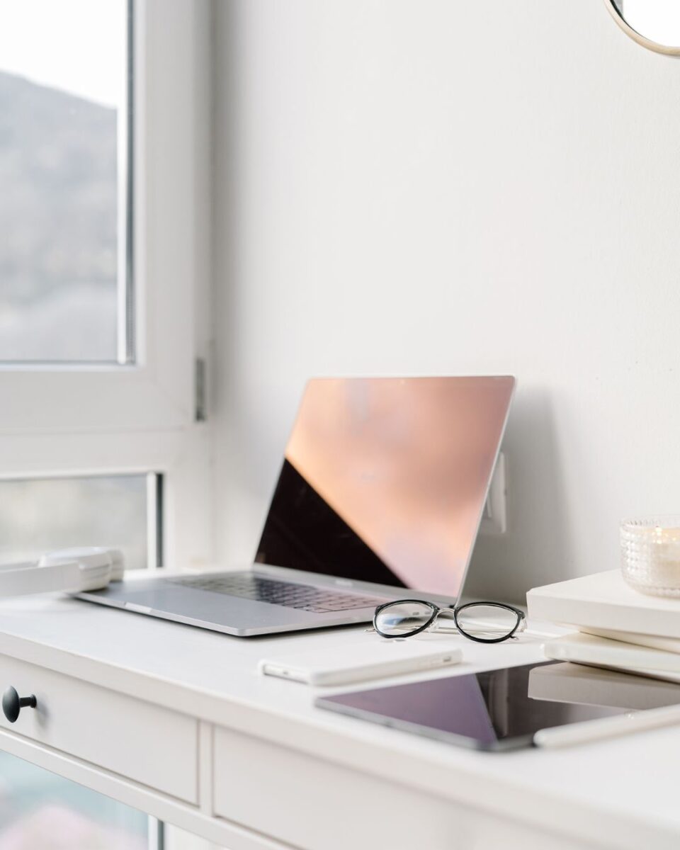
{"type": "Polygon", "coordinates": [[[514,383],[315,378],[255,564],[156,573],[78,597],[240,637],[371,621],[394,598],[455,604],[514,383]]]}

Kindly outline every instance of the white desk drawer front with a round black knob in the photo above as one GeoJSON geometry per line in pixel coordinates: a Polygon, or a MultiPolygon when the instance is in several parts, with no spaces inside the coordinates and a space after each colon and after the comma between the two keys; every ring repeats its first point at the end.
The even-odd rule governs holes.
{"type": "Polygon", "coordinates": [[[116,691],[0,655],[0,694],[9,686],[37,707],[0,728],[196,804],[198,723],[116,691]]]}

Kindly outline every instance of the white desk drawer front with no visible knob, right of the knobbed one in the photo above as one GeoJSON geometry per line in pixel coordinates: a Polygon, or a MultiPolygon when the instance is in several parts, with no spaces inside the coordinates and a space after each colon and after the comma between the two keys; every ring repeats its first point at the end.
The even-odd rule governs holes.
{"type": "Polygon", "coordinates": [[[218,817],[307,850],[592,847],[224,728],[214,801],[218,817]]]}

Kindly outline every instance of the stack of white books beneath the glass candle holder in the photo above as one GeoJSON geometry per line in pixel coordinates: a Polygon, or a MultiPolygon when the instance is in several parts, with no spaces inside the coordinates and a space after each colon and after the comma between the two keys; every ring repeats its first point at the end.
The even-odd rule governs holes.
{"type": "Polygon", "coordinates": [[[611,570],[535,587],[527,606],[577,630],[547,641],[548,658],[680,682],[680,599],[644,596],[611,570]]]}

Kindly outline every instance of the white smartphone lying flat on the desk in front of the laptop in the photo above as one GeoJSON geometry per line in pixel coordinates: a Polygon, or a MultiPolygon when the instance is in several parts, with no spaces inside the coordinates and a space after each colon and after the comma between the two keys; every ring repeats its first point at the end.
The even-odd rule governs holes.
{"type": "Polygon", "coordinates": [[[462,660],[462,649],[436,641],[379,638],[362,635],[363,639],[347,639],[334,649],[275,656],[259,662],[259,672],[264,676],[292,679],[309,685],[343,685],[365,682],[401,673],[433,670],[457,664],[462,660]]]}

